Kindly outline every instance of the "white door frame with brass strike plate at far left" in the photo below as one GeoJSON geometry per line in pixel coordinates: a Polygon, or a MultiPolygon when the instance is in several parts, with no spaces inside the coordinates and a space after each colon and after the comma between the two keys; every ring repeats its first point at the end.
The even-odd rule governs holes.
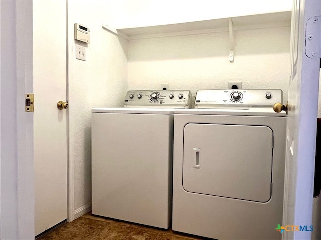
{"type": "Polygon", "coordinates": [[[0,239],[33,239],[32,1],[0,1],[0,239]]]}

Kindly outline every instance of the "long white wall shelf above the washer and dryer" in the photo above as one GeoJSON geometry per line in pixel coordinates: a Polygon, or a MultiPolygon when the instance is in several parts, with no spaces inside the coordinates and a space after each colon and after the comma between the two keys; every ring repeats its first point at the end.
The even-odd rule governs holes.
{"type": "Polygon", "coordinates": [[[290,26],[291,11],[134,28],[103,25],[103,28],[131,40],[229,31],[229,19],[232,20],[234,31],[290,26]]]}

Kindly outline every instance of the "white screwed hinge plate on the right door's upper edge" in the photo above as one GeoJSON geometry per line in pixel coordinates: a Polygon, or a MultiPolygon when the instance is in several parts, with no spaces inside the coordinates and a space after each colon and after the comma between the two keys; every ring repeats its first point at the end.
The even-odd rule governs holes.
{"type": "Polygon", "coordinates": [[[306,22],[305,55],[309,58],[321,58],[321,16],[313,16],[306,22]]]}

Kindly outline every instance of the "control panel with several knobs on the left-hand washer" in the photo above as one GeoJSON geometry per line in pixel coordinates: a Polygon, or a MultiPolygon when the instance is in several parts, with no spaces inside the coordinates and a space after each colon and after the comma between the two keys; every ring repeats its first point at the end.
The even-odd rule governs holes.
{"type": "Polygon", "coordinates": [[[125,107],[190,108],[188,90],[137,90],[128,91],[125,107]]]}

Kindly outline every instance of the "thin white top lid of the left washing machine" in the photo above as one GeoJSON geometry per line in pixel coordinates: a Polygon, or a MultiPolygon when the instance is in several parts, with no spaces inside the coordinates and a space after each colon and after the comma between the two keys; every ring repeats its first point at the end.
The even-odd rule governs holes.
{"type": "Polygon", "coordinates": [[[127,113],[127,114],[174,114],[174,109],[165,108],[93,108],[92,113],[127,113]]]}

